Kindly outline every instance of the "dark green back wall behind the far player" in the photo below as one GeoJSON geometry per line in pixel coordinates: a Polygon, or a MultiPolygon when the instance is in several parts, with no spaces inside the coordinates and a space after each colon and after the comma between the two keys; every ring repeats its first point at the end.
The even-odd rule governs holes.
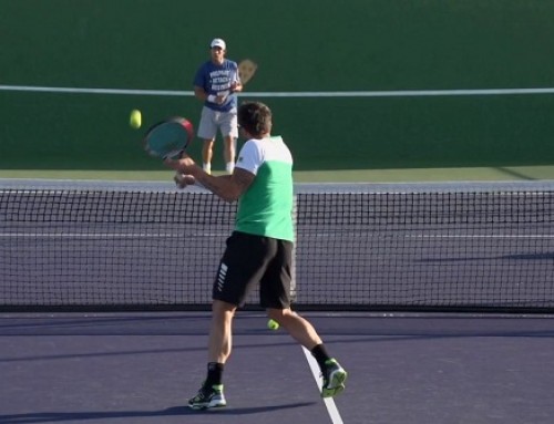
{"type": "MultiPolygon", "coordinates": [[[[242,99],[554,86],[554,1],[0,0],[0,11],[2,85],[192,91],[220,37],[229,58],[259,65],[242,99]]],[[[297,169],[554,162],[554,94],[256,100],[274,110],[297,169]]],[[[197,125],[201,106],[0,90],[0,167],[160,169],[129,112],[142,110],[144,127],[170,115],[197,125]]]]}

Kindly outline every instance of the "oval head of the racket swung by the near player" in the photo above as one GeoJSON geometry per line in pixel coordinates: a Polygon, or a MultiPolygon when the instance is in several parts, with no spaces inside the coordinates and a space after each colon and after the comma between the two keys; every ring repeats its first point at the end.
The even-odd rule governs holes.
{"type": "Polygon", "coordinates": [[[144,149],[154,157],[172,158],[191,144],[193,124],[181,116],[173,116],[152,125],[144,136],[144,149]]]}

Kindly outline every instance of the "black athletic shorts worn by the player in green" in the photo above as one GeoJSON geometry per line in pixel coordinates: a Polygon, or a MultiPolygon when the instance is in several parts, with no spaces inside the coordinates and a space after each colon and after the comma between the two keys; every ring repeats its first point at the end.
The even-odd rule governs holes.
{"type": "Polygon", "coordinates": [[[291,269],[291,241],[234,231],[219,262],[213,299],[240,307],[259,285],[263,308],[289,308],[291,269]]]}

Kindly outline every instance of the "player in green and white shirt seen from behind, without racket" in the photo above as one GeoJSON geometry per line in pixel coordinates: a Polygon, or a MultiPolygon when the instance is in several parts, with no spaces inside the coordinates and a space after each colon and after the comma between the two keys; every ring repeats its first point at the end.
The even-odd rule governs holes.
{"type": "Polygon", "coordinates": [[[281,137],[271,136],[271,111],[259,102],[238,108],[246,138],[232,175],[213,176],[184,155],[165,163],[177,172],[184,188],[198,182],[226,201],[238,200],[235,229],[219,262],[213,286],[207,378],[193,409],[225,406],[223,371],[232,351],[232,321],[248,293],[259,287],[260,306],[302,347],[321,369],[321,396],[345,389],[347,372],[331,358],[314,325],[290,309],[293,267],[293,156],[281,137]]]}

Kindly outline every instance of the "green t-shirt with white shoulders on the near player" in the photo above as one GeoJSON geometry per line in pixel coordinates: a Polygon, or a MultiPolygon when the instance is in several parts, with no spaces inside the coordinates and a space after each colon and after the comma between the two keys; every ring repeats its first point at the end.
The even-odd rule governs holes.
{"type": "Polygon", "coordinates": [[[295,239],[293,226],[293,156],[281,137],[249,139],[236,167],[256,175],[238,199],[237,231],[295,239]]]}

